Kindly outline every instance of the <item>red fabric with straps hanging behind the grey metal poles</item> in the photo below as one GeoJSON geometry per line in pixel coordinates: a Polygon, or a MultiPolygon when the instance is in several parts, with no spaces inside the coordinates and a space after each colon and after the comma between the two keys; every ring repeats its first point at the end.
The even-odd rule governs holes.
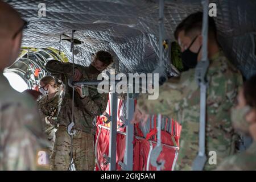
{"type": "MultiPolygon", "coordinates": [[[[136,104],[136,102],[135,102],[136,104]]],[[[118,125],[122,125],[122,122],[119,123],[119,117],[121,112],[121,106],[122,101],[119,102],[118,105],[118,125]]],[[[109,105],[110,108],[110,105],[109,105]]],[[[110,112],[110,110],[109,110],[110,112]]],[[[146,135],[146,138],[135,138],[134,137],[134,154],[133,154],[133,170],[134,171],[146,171],[147,169],[147,160],[148,160],[148,154],[150,152],[150,140],[156,142],[157,141],[157,130],[156,130],[156,118],[157,116],[154,115],[154,126],[151,126],[150,132],[146,135]]],[[[111,123],[111,122],[110,122],[111,123]]],[[[167,144],[168,146],[177,146],[179,147],[179,138],[180,138],[180,132],[181,132],[181,125],[177,123],[176,121],[172,119],[172,125],[171,125],[171,133],[167,131],[167,120],[165,125],[165,130],[162,130],[161,132],[161,139],[162,144],[167,144]],[[175,132],[174,132],[175,131],[175,132]]],[[[109,124],[106,125],[104,123],[104,116],[97,117],[97,131],[96,131],[96,138],[100,131],[100,127],[98,125],[105,125],[110,126],[109,124]]],[[[125,133],[125,128],[120,128],[119,131],[122,131],[125,133]]],[[[100,164],[101,169],[98,168],[96,165],[96,171],[102,170],[106,171],[109,170],[109,164],[105,165],[105,159],[103,157],[103,154],[109,155],[109,134],[110,131],[106,130],[104,128],[101,129],[100,138],[98,140],[97,145],[97,155],[98,155],[98,162],[100,164]]],[[[143,137],[143,133],[141,129],[139,128],[139,123],[134,125],[134,134],[138,137],[143,137]]],[[[156,146],[156,143],[152,143],[153,148],[156,146]]],[[[160,156],[158,157],[159,160],[164,160],[164,168],[162,170],[164,171],[171,171],[172,164],[174,163],[175,159],[175,148],[167,147],[162,145],[162,152],[160,153],[160,156]]],[[[123,158],[125,155],[125,135],[117,133],[117,155],[116,155],[116,169],[119,171],[121,170],[121,167],[119,166],[118,162],[123,162],[123,158]]],[[[150,171],[155,171],[156,168],[149,165],[148,168],[150,171]]]]}

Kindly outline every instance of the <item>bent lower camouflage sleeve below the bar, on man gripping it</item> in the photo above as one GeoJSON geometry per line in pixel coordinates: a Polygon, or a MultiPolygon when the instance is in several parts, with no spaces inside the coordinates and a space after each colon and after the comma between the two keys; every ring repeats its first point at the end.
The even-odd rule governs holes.
{"type": "Polygon", "coordinates": [[[108,94],[96,94],[94,97],[85,97],[81,99],[84,109],[87,113],[96,117],[106,110],[108,104],[108,94]]]}

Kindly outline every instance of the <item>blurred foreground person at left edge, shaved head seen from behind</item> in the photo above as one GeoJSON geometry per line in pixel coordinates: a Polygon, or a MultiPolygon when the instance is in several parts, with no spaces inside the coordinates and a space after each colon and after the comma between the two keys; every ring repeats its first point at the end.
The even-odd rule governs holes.
{"type": "Polygon", "coordinates": [[[48,169],[48,143],[35,102],[3,76],[19,55],[24,22],[0,1],[0,24],[0,171],[48,169]]]}

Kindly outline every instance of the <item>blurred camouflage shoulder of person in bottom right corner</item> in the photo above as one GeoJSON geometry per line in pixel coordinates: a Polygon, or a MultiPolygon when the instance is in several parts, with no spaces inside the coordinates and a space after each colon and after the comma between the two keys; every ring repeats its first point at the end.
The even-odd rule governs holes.
{"type": "Polygon", "coordinates": [[[226,158],[217,170],[256,171],[256,142],[254,141],[246,151],[226,158]]]}

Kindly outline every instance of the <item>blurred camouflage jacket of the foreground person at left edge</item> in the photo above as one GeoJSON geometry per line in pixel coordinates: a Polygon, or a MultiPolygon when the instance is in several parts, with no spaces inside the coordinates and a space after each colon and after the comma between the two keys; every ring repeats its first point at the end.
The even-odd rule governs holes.
{"type": "MultiPolygon", "coordinates": [[[[35,109],[35,108],[34,108],[35,109]]],[[[2,106],[1,166],[3,170],[49,169],[48,143],[36,110],[18,104],[2,106]]]]}

